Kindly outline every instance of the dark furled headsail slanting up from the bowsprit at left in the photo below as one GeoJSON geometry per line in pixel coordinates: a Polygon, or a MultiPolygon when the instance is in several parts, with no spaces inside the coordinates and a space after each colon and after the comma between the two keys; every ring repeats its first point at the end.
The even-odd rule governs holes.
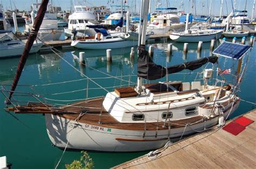
{"type": "Polygon", "coordinates": [[[18,66],[17,66],[17,71],[16,71],[16,74],[15,74],[15,78],[14,78],[14,81],[12,82],[12,85],[11,85],[11,91],[10,91],[10,94],[9,94],[9,101],[6,102],[6,104],[10,104],[10,100],[11,100],[11,96],[12,94],[14,94],[14,91],[18,85],[18,81],[19,81],[19,78],[21,78],[21,74],[22,74],[22,71],[23,71],[23,68],[25,66],[25,63],[26,63],[26,59],[28,59],[29,57],[29,52],[31,50],[31,47],[33,46],[33,43],[35,41],[35,39],[37,38],[37,33],[38,33],[38,30],[43,22],[43,18],[44,18],[44,14],[47,10],[47,5],[48,5],[48,2],[49,0],[42,0],[42,3],[40,5],[40,8],[38,10],[38,13],[37,13],[37,16],[35,18],[35,22],[33,24],[33,27],[32,27],[32,31],[31,33],[29,34],[29,38],[28,38],[28,41],[26,41],[26,45],[24,47],[24,50],[23,50],[23,53],[22,53],[22,56],[21,56],[21,60],[19,60],[19,63],[18,63],[18,66]]]}

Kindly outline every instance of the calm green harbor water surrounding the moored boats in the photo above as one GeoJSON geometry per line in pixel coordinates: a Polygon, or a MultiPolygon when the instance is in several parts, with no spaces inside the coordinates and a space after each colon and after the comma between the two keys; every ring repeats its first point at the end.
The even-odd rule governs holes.
{"type": "MultiPolygon", "coordinates": [[[[168,42],[170,43],[170,42],[168,42]]],[[[167,43],[152,44],[155,46],[154,62],[159,65],[166,66],[166,48],[167,43]]],[[[167,66],[180,64],[184,61],[195,60],[200,57],[208,57],[210,46],[209,43],[203,44],[203,51],[201,55],[197,55],[197,44],[189,44],[189,52],[187,56],[180,51],[183,44],[173,44],[176,50],[173,50],[172,57],[169,58],[167,66]]],[[[113,50],[112,64],[107,65],[105,50],[103,51],[84,51],[86,55],[86,62],[91,67],[80,69],[79,63],[73,59],[74,55],[79,55],[82,50],[73,52],[64,51],[65,55],[62,57],[67,60],[72,66],[84,72],[90,78],[107,77],[106,75],[97,72],[95,69],[111,74],[113,76],[131,75],[131,81],[136,82],[137,73],[137,55],[135,55],[134,63],[130,61],[130,48],[121,50],[113,50]]],[[[79,57],[79,56],[78,56],[79,57]]],[[[0,84],[10,84],[14,78],[16,66],[19,58],[2,59],[0,60],[0,84]]],[[[221,58],[219,60],[221,68],[232,68],[232,73],[235,72],[236,64],[233,65],[231,59],[221,58]]],[[[246,100],[254,102],[255,97],[255,48],[251,52],[250,62],[246,71],[246,75],[241,85],[241,92],[239,96],[246,100]]],[[[208,65],[211,68],[212,65],[208,65]]],[[[194,72],[200,72],[200,68],[194,72]]],[[[190,71],[183,71],[181,73],[190,73],[190,71]]],[[[171,74],[169,80],[193,81],[197,74],[171,74]]],[[[202,78],[201,75],[198,76],[202,78]]],[[[228,81],[232,81],[230,75],[225,75],[228,81]]],[[[75,81],[70,83],[63,83],[58,85],[40,86],[55,82],[64,82],[70,80],[83,79],[83,76],[75,71],[65,61],[61,60],[55,54],[33,54],[30,55],[19,84],[23,85],[39,85],[31,88],[18,87],[17,90],[30,91],[38,93],[42,97],[53,100],[64,100],[64,102],[50,101],[51,103],[66,104],[71,101],[85,98],[86,91],[79,91],[69,94],[52,95],[56,93],[63,93],[65,91],[73,91],[86,88],[86,80],[75,81]]],[[[129,80],[129,76],[123,78],[129,80]]],[[[166,80],[165,78],[161,80],[166,80]]],[[[158,80],[158,81],[161,81],[158,80]]],[[[95,79],[103,87],[113,90],[113,86],[128,85],[127,82],[115,79],[95,79]]],[[[212,81],[210,81],[211,83],[212,81]]],[[[93,83],[89,83],[90,88],[97,88],[93,83]]],[[[106,92],[102,89],[89,90],[89,97],[103,96],[106,92]]],[[[18,97],[18,96],[17,96],[18,97]]],[[[28,98],[27,98],[28,100],[28,98]]],[[[0,95],[0,156],[6,156],[9,163],[12,163],[12,168],[54,168],[58,163],[62,150],[53,147],[48,138],[45,128],[45,120],[42,115],[18,115],[12,117],[5,112],[4,97],[0,95]]],[[[250,103],[241,102],[239,108],[234,112],[232,117],[243,114],[254,107],[250,103]]],[[[13,115],[13,114],[12,114],[13,115]]],[[[123,163],[127,160],[142,156],[146,152],[136,153],[99,153],[89,152],[92,157],[95,168],[109,168],[114,165],[123,163]]],[[[73,159],[80,157],[80,152],[66,151],[64,157],[59,165],[59,168],[64,168],[64,164],[69,164],[73,159]]]]}

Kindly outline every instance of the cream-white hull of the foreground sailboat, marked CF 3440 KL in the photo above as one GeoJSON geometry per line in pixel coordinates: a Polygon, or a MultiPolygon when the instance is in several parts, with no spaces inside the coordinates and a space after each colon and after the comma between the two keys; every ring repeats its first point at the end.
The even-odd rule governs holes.
{"type": "MultiPolygon", "coordinates": [[[[239,101],[234,104],[232,112],[237,109],[239,101]]],[[[224,117],[230,112],[231,104],[226,108],[224,117]]],[[[218,124],[218,117],[205,122],[170,130],[124,130],[107,128],[86,123],[78,123],[51,114],[45,115],[46,128],[52,144],[64,148],[69,141],[68,149],[135,152],[159,149],[164,146],[170,136],[171,140],[194,133],[194,130],[204,130],[218,124]],[[74,126],[75,125],[75,126],[74,126]],[[157,137],[156,137],[157,134],[157,137]],[[169,135],[170,134],[170,135],[169,135]],[[71,136],[70,136],[71,135],[71,136]]],[[[134,124],[136,125],[136,124],[134,124]]]]}

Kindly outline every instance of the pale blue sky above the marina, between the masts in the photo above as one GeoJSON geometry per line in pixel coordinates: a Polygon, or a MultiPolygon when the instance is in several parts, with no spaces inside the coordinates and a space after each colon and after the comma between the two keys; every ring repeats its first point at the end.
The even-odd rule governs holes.
{"type": "MultiPolygon", "coordinates": [[[[40,1],[40,0],[39,0],[40,1]]],[[[50,0],[50,2],[52,2],[53,5],[56,6],[60,6],[62,7],[62,10],[70,10],[70,4],[71,1],[73,1],[74,3],[82,3],[83,1],[81,0],[50,0]]],[[[130,9],[130,11],[134,11],[134,4],[137,4],[137,11],[139,10],[139,6],[140,6],[140,1],[141,0],[123,0],[123,2],[126,1],[128,2],[128,4],[131,6],[132,9],[130,9]]],[[[151,11],[153,12],[154,9],[156,8],[156,1],[157,0],[151,0],[151,11]]],[[[196,12],[197,15],[208,15],[208,10],[210,8],[210,2],[211,0],[194,0],[196,2],[196,12]]],[[[224,15],[228,13],[230,13],[232,11],[232,2],[237,2],[237,9],[240,10],[244,10],[245,9],[245,4],[247,2],[246,5],[246,10],[248,11],[248,16],[252,15],[252,6],[253,6],[253,2],[254,0],[223,0],[223,13],[224,15]],[[227,3],[227,5],[226,5],[227,3]]],[[[35,3],[36,0],[0,0],[0,2],[3,4],[4,6],[4,10],[6,9],[15,9],[15,6],[17,9],[19,10],[30,10],[30,5],[32,3],[35,3]]],[[[114,5],[119,5],[121,0],[87,0],[87,5],[89,6],[100,6],[100,5],[105,5],[108,8],[110,8],[110,4],[114,4],[114,5]],[[108,3],[109,2],[109,3],[108,3]]],[[[180,4],[181,2],[183,2],[184,6],[183,6],[183,10],[187,13],[187,12],[192,12],[192,5],[191,2],[192,0],[162,0],[160,1],[162,6],[161,8],[165,8],[166,6],[166,2],[169,3],[169,7],[176,7],[178,9],[180,9],[180,4]]],[[[212,0],[212,15],[219,15],[220,13],[220,2],[221,0],[212,0]]],[[[195,10],[193,10],[192,12],[193,14],[195,14],[195,10]]],[[[255,16],[255,12],[254,12],[254,16],[255,16]]]]}

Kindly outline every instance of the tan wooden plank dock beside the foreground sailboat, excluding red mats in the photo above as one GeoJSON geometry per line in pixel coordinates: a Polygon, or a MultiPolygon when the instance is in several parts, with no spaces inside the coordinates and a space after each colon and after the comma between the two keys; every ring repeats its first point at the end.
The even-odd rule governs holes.
{"type": "Polygon", "coordinates": [[[208,130],[174,143],[157,158],[144,155],[113,168],[256,168],[256,109],[243,116],[254,122],[237,136],[223,128],[208,130]]]}

